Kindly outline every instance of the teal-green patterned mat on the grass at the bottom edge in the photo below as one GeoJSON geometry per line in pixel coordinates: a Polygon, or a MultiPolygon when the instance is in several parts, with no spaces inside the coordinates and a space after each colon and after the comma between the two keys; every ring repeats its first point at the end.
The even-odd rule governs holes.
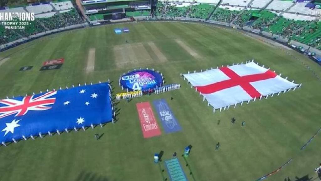
{"type": "Polygon", "coordinates": [[[171,181],[187,181],[184,171],[177,158],[166,160],[165,166],[171,181]]]}

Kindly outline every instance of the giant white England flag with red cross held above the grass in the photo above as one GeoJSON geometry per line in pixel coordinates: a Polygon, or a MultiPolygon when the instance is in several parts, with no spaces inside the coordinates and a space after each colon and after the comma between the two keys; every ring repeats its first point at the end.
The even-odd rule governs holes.
{"type": "Polygon", "coordinates": [[[215,109],[298,86],[254,62],[183,76],[215,109]]]}

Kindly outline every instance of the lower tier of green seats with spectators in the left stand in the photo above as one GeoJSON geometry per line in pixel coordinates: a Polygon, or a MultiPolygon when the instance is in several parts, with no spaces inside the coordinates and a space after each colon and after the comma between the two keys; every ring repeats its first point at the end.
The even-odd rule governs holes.
{"type": "Polygon", "coordinates": [[[57,13],[49,18],[36,18],[35,21],[28,22],[25,29],[4,29],[0,25],[0,44],[5,44],[28,37],[36,33],[54,30],[65,26],[83,23],[82,18],[75,9],[65,13],[57,13]]]}

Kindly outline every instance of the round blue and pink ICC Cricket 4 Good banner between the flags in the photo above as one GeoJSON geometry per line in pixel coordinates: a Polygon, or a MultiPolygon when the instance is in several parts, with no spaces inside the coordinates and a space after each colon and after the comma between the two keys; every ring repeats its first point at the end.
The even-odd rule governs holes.
{"type": "Polygon", "coordinates": [[[162,76],[152,70],[135,70],[121,76],[120,84],[130,91],[134,90],[149,90],[160,87],[162,76]]]}

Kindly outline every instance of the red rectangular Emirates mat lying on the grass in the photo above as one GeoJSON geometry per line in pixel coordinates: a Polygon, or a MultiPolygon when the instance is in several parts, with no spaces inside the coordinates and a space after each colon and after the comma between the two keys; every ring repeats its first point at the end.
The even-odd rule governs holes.
{"type": "Polygon", "coordinates": [[[151,104],[149,102],[142,102],[137,103],[136,107],[144,138],[161,135],[160,128],[156,122],[151,104]]]}

